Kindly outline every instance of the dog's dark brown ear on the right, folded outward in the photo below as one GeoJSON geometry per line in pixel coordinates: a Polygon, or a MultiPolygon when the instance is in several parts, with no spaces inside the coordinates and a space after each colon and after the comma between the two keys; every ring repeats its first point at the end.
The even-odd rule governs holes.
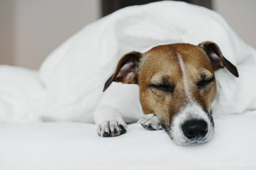
{"type": "Polygon", "coordinates": [[[236,66],[230,63],[221,53],[219,46],[211,41],[205,41],[198,46],[202,47],[206,55],[210,58],[214,71],[227,67],[227,69],[238,78],[236,66]]]}

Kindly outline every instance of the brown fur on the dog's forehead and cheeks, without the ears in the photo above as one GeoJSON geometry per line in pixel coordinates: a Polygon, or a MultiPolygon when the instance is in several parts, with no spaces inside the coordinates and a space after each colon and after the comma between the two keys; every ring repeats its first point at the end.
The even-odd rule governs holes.
{"type": "Polygon", "coordinates": [[[173,115],[178,113],[182,105],[188,102],[183,89],[182,72],[177,58],[178,53],[184,61],[188,82],[194,82],[189,84],[192,98],[206,112],[209,111],[209,105],[216,93],[215,82],[204,91],[196,87],[203,71],[208,70],[214,74],[211,63],[201,48],[189,44],[174,44],[157,46],[149,50],[149,52],[142,55],[142,57],[147,57],[147,60],[138,73],[140,103],[145,114],[155,113],[165,123],[170,123],[173,115]],[[170,82],[175,84],[172,93],[149,88],[151,78],[156,74],[158,74],[158,81],[166,76],[170,82]]]}

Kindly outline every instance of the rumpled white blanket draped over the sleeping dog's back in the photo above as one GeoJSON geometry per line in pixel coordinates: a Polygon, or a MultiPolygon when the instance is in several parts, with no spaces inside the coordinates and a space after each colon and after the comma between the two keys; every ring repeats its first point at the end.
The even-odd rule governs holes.
{"type": "Polygon", "coordinates": [[[164,1],[127,7],[87,25],[49,55],[39,73],[1,66],[0,122],[93,122],[103,84],[124,53],[158,44],[197,45],[206,40],[217,43],[239,72],[239,78],[226,69],[216,73],[218,94],[213,113],[256,109],[255,50],[219,14],[164,1]]]}

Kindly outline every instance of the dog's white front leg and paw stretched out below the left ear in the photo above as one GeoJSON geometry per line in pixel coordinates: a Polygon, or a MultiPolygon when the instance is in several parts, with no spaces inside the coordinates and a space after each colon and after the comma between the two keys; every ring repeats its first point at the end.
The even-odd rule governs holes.
{"type": "Polygon", "coordinates": [[[125,121],[136,122],[141,115],[138,86],[116,82],[104,92],[93,113],[101,137],[116,137],[125,133],[125,121]]]}

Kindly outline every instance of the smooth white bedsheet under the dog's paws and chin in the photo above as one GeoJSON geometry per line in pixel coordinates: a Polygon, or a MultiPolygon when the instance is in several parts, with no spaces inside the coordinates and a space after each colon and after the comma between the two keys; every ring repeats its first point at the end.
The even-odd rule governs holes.
{"type": "Polygon", "coordinates": [[[0,125],[0,169],[256,169],[256,114],[215,118],[210,142],[175,145],[164,131],[130,124],[127,133],[99,137],[94,124],[0,125]]]}

